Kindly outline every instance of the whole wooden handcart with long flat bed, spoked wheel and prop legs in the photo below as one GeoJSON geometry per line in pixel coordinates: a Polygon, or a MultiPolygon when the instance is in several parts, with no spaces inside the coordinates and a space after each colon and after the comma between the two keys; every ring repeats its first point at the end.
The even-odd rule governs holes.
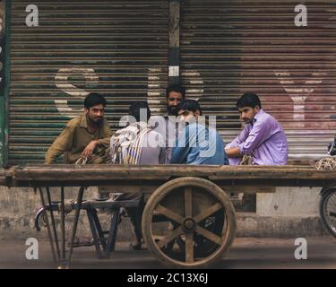
{"type": "Polygon", "coordinates": [[[273,192],[275,187],[335,187],[336,171],[315,170],[312,166],[40,165],[3,170],[0,184],[39,188],[43,206],[51,203],[49,187],[60,187],[62,246],[58,259],[52,211],[47,230],[54,257],[68,264],[73,247],[65,260],[64,187],[80,187],[72,243],[85,187],[108,185],[111,192],[150,194],[142,215],[147,248],[165,265],[195,268],[220,260],[235,239],[236,214],[228,193],[273,192]]]}

